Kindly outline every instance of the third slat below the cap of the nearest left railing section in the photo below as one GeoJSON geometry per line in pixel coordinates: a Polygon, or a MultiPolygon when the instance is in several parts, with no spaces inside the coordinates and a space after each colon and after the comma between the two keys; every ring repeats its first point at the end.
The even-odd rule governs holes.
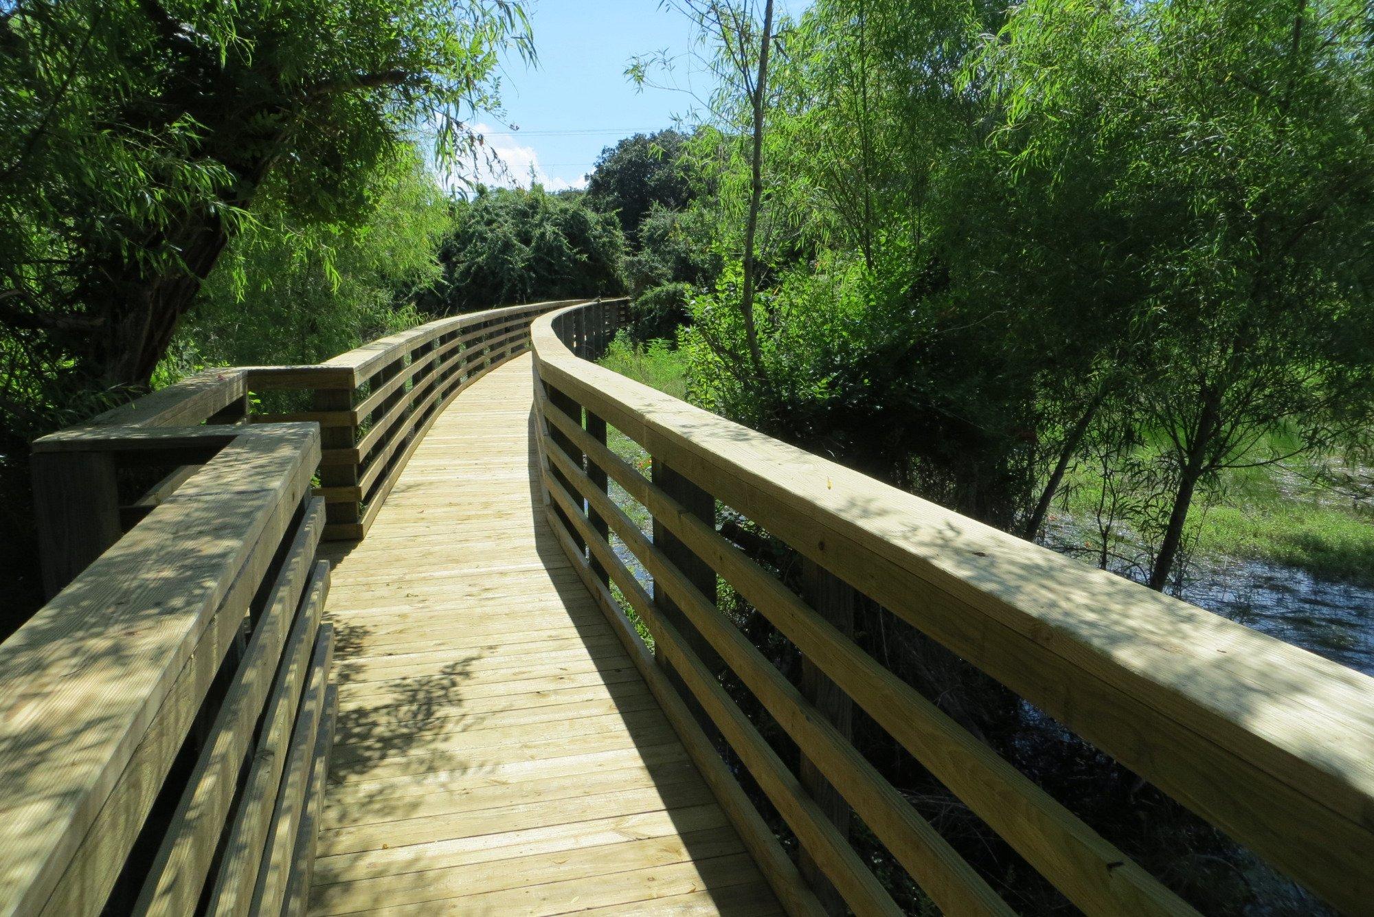
{"type": "Polygon", "coordinates": [[[262,865],[253,887],[253,903],[249,906],[249,913],[253,914],[280,913],[286,899],[286,885],[305,806],[305,789],[313,767],[315,743],[326,712],[324,697],[328,690],[333,655],[334,634],[327,623],[320,625],[311,655],[311,677],[295,715],[295,728],[291,730],[291,747],[286,754],[286,767],[262,851],[262,865]]]}

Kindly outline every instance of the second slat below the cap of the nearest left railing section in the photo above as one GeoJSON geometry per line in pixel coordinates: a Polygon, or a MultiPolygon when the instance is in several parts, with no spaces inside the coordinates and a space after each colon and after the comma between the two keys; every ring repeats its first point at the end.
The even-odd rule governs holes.
{"type": "Polygon", "coordinates": [[[291,726],[295,723],[306,673],[311,670],[311,652],[315,648],[328,583],[328,564],[316,563],[305,604],[295,616],[291,636],[282,652],[272,696],[262,719],[261,737],[253,754],[238,811],[225,835],[224,854],[210,888],[206,913],[218,917],[243,917],[249,913],[262,850],[272,824],[273,803],[286,767],[291,726]]]}

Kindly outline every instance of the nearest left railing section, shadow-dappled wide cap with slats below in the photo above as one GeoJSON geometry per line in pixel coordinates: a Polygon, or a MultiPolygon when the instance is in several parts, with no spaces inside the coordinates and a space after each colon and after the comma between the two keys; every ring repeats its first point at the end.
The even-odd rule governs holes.
{"type": "Polygon", "coordinates": [[[0,644],[0,913],[300,913],[334,718],[319,430],[45,448],[82,445],[199,464],[0,644]]]}

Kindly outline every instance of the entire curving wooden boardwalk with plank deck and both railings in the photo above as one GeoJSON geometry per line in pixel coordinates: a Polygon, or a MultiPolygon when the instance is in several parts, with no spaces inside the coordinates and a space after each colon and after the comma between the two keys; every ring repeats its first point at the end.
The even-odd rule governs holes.
{"type": "Polygon", "coordinates": [[[860,600],[1374,901],[1374,680],[589,362],[624,312],[444,318],[37,441],[0,914],[901,913],[855,820],[940,910],[1011,913],[856,710],[1084,913],[1195,913],[866,652],[860,600]]]}

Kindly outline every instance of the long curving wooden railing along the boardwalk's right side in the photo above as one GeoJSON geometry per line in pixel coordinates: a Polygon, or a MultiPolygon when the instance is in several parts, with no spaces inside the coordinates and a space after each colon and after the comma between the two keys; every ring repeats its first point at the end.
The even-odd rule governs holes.
{"type": "Polygon", "coordinates": [[[789,910],[818,903],[796,892],[797,868],[708,733],[787,822],[822,898],[900,913],[837,828],[849,806],[945,913],[1009,913],[851,744],[853,704],[1084,912],[1193,913],[866,653],[846,633],[861,594],[1331,905],[1369,913],[1374,680],[596,367],[581,358],[599,353],[587,328],[609,309],[533,327],[548,515],[789,910]],[[650,478],[607,449],[607,424],[650,454],[650,478]],[[607,479],[650,513],[651,533],[607,496],[607,479]],[[805,594],[717,530],[717,501],[800,555],[805,594]],[[801,688],[717,608],[717,577],[800,651],[801,688]],[[647,626],[653,656],[610,586],[647,626]],[[725,692],[725,667],[796,741],[796,771],[725,692]]]}

